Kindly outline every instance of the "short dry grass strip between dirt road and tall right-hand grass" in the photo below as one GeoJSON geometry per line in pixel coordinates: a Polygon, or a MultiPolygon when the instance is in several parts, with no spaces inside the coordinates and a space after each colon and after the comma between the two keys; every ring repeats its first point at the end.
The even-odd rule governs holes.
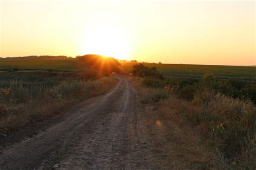
{"type": "Polygon", "coordinates": [[[164,103],[146,105],[142,113],[147,138],[151,141],[149,145],[154,148],[152,159],[157,159],[162,167],[171,169],[223,167],[211,149],[201,144],[199,134],[177,116],[177,107],[164,103]]]}

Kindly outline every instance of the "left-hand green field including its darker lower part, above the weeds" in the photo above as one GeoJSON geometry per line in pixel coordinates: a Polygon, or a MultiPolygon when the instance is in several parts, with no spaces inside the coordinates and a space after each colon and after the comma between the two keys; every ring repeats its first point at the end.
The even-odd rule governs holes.
{"type": "Polygon", "coordinates": [[[25,85],[58,84],[83,77],[91,67],[75,58],[69,59],[14,59],[0,60],[0,87],[12,80],[22,80],[25,85]]]}

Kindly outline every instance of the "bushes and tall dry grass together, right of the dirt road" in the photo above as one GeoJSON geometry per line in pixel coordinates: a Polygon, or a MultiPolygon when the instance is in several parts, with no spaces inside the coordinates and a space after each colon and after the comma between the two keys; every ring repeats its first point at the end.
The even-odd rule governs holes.
{"type": "Polygon", "coordinates": [[[202,146],[217,155],[222,168],[255,169],[254,82],[218,79],[214,74],[205,74],[197,80],[140,77],[137,81],[140,101],[155,107],[155,114],[162,121],[194,133],[193,137],[198,137],[202,146]]]}

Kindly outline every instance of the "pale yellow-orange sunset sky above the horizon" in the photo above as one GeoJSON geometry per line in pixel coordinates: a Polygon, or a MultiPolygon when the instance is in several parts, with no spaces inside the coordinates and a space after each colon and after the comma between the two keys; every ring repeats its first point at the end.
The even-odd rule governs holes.
{"type": "Polygon", "coordinates": [[[255,1],[0,1],[1,57],[256,65],[255,1]]]}

